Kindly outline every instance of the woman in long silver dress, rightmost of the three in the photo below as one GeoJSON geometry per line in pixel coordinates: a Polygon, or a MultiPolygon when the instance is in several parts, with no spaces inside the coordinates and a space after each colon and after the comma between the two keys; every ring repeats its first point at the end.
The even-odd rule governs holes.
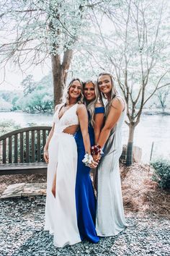
{"type": "Polygon", "coordinates": [[[101,73],[97,80],[101,97],[105,98],[105,124],[97,141],[99,161],[97,178],[98,236],[115,236],[122,231],[125,216],[122,204],[119,158],[122,153],[122,124],[126,115],[125,101],[117,94],[112,74],[101,73]],[[101,148],[104,154],[101,158],[101,148]]]}

